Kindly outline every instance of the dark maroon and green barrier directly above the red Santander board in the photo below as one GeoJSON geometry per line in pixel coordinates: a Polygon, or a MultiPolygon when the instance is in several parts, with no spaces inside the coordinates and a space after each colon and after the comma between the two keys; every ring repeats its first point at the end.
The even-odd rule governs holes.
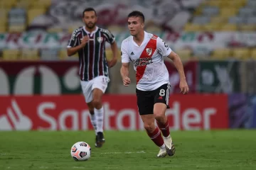
{"type": "MultiPolygon", "coordinates": [[[[171,94],[178,94],[179,77],[174,64],[165,62],[169,71],[171,94]]],[[[190,93],[256,93],[256,61],[184,62],[190,93]]],[[[132,86],[124,89],[119,74],[121,63],[110,69],[110,94],[135,93],[134,70],[130,68],[132,86]],[[114,78],[113,78],[114,77],[114,78]]],[[[79,64],[62,62],[0,62],[0,96],[33,94],[80,94],[79,64]]]]}

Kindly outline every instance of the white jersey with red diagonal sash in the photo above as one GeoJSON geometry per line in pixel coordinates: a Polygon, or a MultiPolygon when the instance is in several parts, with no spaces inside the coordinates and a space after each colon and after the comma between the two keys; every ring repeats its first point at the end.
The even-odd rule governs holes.
{"type": "Polygon", "coordinates": [[[171,53],[171,48],[156,35],[144,32],[142,45],[138,46],[133,37],[122,41],[122,62],[133,62],[136,71],[137,89],[152,91],[169,83],[169,73],[164,64],[164,57],[171,53]]]}

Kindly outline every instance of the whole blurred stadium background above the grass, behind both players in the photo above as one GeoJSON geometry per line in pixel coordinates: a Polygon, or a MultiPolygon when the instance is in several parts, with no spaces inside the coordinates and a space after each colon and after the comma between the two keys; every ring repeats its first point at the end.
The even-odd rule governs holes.
{"type": "MultiPolygon", "coordinates": [[[[110,30],[119,48],[129,36],[127,14],[139,10],[146,18],[145,30],[180,55],[191,91],[188,96],[179,94],[178,72],[166,60],[171,128],[256,128],[256,0],[0,0],[0,130],[92,129],[87,120],[88,125],[79,122],[78,127],[69,120],[87,111],[87,106],[81,95],[78,56],[68,57],[65,49],[73,30],[84,25],[82,11],[87,7],[95,8],[97,26],[110,30]],[[58,111],[44,112],[41,106],[48,101],[58,111]],[[69,108],[77,112],[66,112],[61,128],[59,117],[69,108]],[[52,114],[53,121],[43,114],[52,114]],[[21,123],[24,116],[27,122],[21,123]]],[[[110,45],[106,55],[111,59],[110,45]]],[[[122,85],[120,67],[119,56],[110,69],[104,99],[110,118],[105,129],[143,129],[132,64],[129,87],[122,85]],[[116,121],[121,120],[119,126],[116,121]]]]}

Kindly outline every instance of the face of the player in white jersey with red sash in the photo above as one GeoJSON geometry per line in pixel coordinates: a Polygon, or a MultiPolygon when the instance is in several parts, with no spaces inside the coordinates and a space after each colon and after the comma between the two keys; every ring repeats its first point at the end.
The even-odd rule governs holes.
{"type": "Polygon", "coordinates": [[[129,17],[128,28],[132,36],[136,36],[140,31],[143,31],[144,23],[140,17],[129,17]]]}

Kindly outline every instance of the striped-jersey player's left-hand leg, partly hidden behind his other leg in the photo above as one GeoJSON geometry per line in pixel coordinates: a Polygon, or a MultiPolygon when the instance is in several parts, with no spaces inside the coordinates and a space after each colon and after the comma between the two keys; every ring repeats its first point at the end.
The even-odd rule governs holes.
{"type": "Polygon", "coordinates": [[[80,84],[82,87],[82,94],[85,96],[85,102],[87,103],[90,112],[90,122],[92,123],[92,126],[95,130],[95,146],[97,147],[97,120],[92,103],[92,81],[80,81],[80,84]]]}

